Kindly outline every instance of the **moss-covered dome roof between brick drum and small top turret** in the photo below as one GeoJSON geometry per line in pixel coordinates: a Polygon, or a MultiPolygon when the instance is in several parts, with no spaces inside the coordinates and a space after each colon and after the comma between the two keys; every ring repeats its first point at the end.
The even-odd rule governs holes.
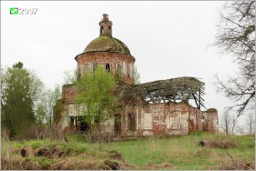
{"type": "Polygon", "coordinates": [[[121,40],[112,37],[112,35],[103,34],[92,40],[83,52],[115,52],[122,53],[124,55],[131,55],[130,50],[121,40]]]}

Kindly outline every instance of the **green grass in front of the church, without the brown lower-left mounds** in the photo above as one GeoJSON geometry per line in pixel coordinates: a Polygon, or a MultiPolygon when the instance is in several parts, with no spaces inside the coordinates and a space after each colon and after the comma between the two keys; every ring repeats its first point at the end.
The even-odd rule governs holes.
{"type": "MultiPolygon", "coordinates": [[[[187,136],[171,138],[138,138],[133,141],[111,143],[87,143],[85,137],[79,134],[69,135],[69,142],[44,140],[29,140],[23,142],[3,142],[2,155],[9,155],[17,148],[59,146],[66,153],[85,153],[103,158],[107,151],[115,150],[123,155],[124,160],[138,169],[144,166],[171,163],[176,169],[218,169],[222,162],[235,160],[253,163],[255,160],[255,136],[226,136],[196,132],[187,136]],[[237,147],[223,150],[207,146],[198,146],[200,140],[234,142],[237,147]],[[229,155],[227,154],[229,153],[229,155]]],[[[33,160],[33,159],[31,159],[33,160]]],[[[35,159],[34,159],[35,160],[35,159]]],[[[38,159],[39,160],[39,159],[38,159]]],[[[48,166],[51,161],[41,158],[38,162],[48,166]]]]}

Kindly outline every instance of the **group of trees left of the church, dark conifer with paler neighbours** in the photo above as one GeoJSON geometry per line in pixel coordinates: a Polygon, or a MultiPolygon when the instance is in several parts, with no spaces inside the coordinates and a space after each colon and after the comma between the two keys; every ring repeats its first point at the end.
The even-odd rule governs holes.
{"type": "Polygon", "coordinates": [[[53,107],[61,98],[60,85],[47,88],[21,62],[2,68],[1,78],[1,128],[10,139],[29,138],[39,126],[54,126],[53,107]]]}

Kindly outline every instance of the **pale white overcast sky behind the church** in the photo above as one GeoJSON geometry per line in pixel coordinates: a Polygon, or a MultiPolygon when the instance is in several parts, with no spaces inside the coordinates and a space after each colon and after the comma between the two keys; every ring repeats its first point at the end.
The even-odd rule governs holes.
{"type": "MultiPolygon", "coordinates": [[[[1,65],[18,61],[34,70],[48,88],[63,83],[64,71],[76,67],[74,57],[99,36],[102,14],[112,21],[112,35],[135,57],[141,82],[178,76],[201,78],[205,106],[234,105],[216,93],[216,79],[235,75],[237,65],[215,41],[223,1],[161,2],[1,2],[1,65]],[[37,8],[36,15],[10,15],[10,7],[37,8]]],[[[244,121],[241,117],[240,123],[244,121]]]]}

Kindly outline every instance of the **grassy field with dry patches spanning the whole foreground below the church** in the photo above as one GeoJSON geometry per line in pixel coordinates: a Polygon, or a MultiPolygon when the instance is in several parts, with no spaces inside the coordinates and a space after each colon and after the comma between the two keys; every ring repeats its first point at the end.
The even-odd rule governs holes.
{"type": "MultiPolygon", "coordinates": [[[[71,160],[72,162],[68,162],[66,165],[70,165],[67,168],[72,168],[71,165],[77,166],[70,159],[72,156],[78,159],[77,162],[86,161],[86,166],[89,162],[91,169],[101,169],[105,160],[111,159],[109,152],[115,150],[123,156],[125,164],[133,166],[126,167],[130,169],[233,169],[235,163],[239,163],[240,166],[255,168],[255,136],[225,136],[197,132],[180,137],[138,138],[133,141],[101,144],[86,143],[82,135],[70,135],[68,140],[69,142],[50,141],[48,139],[2,142],[2,156],[19,156],[22,158],[18,149],[25,146],[31,146],[34,150],[42,147],[58,146],[59,151],[66,155],[62,157],[26,156],[25,160],[37,162],[37,164],[45,166],[45,169],[51,168],[48,166],[54,163],[63,165],[63,160],[71,160]],[[200,140],[204,140],[206,146],[198,146],[197,143],[200,140]],[[214,142],[215,144],[213,144],[214,146],[207,146],[208,142],[214,142]],[[221,142],[223,145],[227,145],[226,149],[217,146],[221,142]],[[94,164],[98,167],[93,167],[94,164]]],[[[90,169],[90,167],[87,167],[87,169],[90,169]]]]}

